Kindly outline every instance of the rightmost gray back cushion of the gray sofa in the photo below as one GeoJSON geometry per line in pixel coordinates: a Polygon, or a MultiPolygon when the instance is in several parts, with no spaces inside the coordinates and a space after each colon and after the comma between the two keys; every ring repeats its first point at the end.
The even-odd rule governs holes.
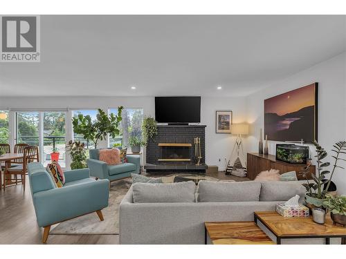
{"type": "Polygon", "coordinates": [[[261,182],[262,189],[261,201],[289,200],[294,195],[300,195],[299,202],[304,201],[305,187],[302,184],[305,181],[295,182],[261,182]]]}

